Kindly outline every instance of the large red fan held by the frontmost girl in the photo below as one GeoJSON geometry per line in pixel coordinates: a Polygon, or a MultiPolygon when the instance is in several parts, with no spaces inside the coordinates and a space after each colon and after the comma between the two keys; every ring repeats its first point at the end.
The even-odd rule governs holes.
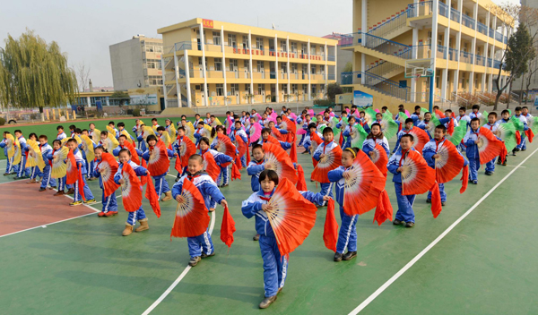
{"type": "Polygon", "coordinates": [[[308,237],[316,223],[316,206],[304,199],[293,184],[284,178],[273,192],[265,211],[273,227],[278,250],[282,256],[294,251],[308,237]]]}

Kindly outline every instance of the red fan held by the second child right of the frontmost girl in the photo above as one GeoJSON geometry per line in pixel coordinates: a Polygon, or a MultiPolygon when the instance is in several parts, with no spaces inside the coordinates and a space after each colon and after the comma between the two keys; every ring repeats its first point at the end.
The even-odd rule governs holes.
{"type": "Polygon", "coordinates": [[[419,195],[430,191],[435,183],[435,170],[428,166],[426,160],[417,151],[406,153],[402,164],[402,194],[419,195]]]}

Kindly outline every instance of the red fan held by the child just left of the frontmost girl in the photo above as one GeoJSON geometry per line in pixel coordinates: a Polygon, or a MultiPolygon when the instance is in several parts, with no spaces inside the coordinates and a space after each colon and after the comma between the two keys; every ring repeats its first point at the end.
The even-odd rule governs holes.
{"type": "Polygon", "coordinates": [[[183,202],[178,202],[171,237],[195,237],[204,234],[209,226],[209,215],[205,208],[204,197],[195,184],[183,179],[181,189],[183,202]]]}

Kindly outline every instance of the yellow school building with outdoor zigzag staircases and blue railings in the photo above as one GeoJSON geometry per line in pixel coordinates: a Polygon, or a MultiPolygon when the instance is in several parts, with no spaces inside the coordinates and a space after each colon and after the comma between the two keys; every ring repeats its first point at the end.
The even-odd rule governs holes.
{"type": "Polygon", "coordinates": [[[375,104],[429,101],[430,79],[409,78],[412,64],[434,71],[437,105],[465,105],[469,95],[482,99],[496,89],[514,25],[490,0],[353,0],[352,10],[354,32],[343,49],[354,54],[353,72],[341,80],[375,104]]]}

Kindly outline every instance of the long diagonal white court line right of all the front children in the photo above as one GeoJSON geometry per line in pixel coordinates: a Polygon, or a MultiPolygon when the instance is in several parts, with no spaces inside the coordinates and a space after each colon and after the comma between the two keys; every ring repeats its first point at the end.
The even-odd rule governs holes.
{"type": "Polygon", "coordinates": [[[459,217],[456,220],[456,222],[454,222],[451,226],[448,226],[448,228],[445,230],[445,232],[440,234],[438,236],[438,238],[436,238],[432,243],[430,243],[430,245],[428,245],[425,249],[423,249],[421,252],[419,252],[419,254],[416,255],[411,261],[409,261],[404,266],[404,268],[401,268],[393,277],[388,279],[386,281],[386,283],[381,285],[376,290],[376,292],[371,294],[366,300],[364,300],[364,302],[361,302],[360,305],[357,306],[357,308],[355,308],[355,310],[350,312],[350,314],[355,315],[355,314],[358,314],[360,311],[364,310],[364,308],[367,307],[370,302],[374,301],[377,298],[377,296],[379,296],[379,294],[382,294],[383,291],[385,291],[386,288],[389,285],[392,285],[399,277],[404,275],[405,271],[407,271],[409,268],[412,268],[412,265],[414,265],[417,261],[419,261],[422,258],[422,256],[424,256],[428,251],[430,251],[433,248],[433,246],[435,246],[445,236],[447,236],[447,234],[450,231],[452,231],[460,222],[462,222],[465,217],[469,216],[471,214],[471,212],[473,212],[473,210],[476,209],[482,203],[483,200],[486,200],[486,198],[488,198],[490,196],[491,192],[494,192],[499,187],[499,185],[501,183],[504,183],[504,181],[506,181],[508,179],[508,177],[510,177],[510,175],[514,174],[514,172],[516,172],[516,169],[519,168],[521,165],[523,165],[526,162],[527,159],[531,158],[534,155],[534,153],[536,153],[536,151],[538,151],[538,149],[535,149],[533,151],[533,153],[531,153],[528,157],[526,157],[523,161],[521,161],[521,163],[519,163],[518,166],[516,166],[513,170],[511,170],[510,173],[508,173],[508,175],[504,176],[503,179],[501,179],[499,181],[499,183],[497,183],[495,186],[493,186],[493,188],[491,188],[489,192],[487,192],[485,195],[483,195],[483,197],[480,200],[476,201],[476,203],[473,205],[473,207],[471,207],[471,209],[468,209],[467,212],[465,212],[461,217],[459,217]]]}

